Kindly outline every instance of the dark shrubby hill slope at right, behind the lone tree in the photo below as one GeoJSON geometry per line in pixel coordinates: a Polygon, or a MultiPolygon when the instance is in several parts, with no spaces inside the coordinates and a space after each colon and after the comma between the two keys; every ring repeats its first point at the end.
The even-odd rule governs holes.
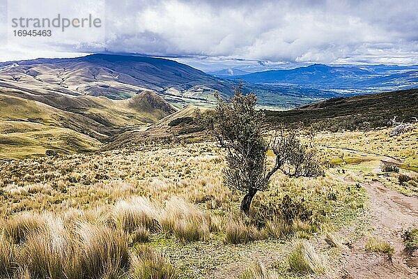
{"type": "Polygon", "coordinates": [[[388,126],[418,117],[418,89],[331,98],[294,110],[265,111],[271,128],[314,126],[319,130],[355,130],[388,126]]]}

